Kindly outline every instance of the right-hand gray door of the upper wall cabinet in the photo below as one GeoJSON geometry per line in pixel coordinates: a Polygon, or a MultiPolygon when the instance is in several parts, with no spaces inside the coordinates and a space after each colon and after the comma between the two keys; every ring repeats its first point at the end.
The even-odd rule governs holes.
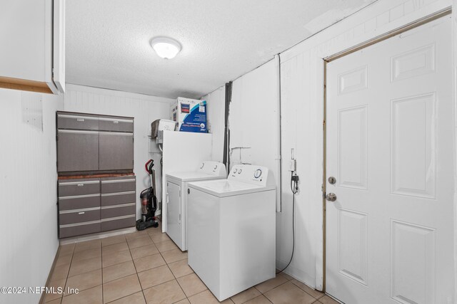
{"type": "Polygon", "coordinates": [[[100,132],[100,170],[134,169],[134,134],[100,132]]]}

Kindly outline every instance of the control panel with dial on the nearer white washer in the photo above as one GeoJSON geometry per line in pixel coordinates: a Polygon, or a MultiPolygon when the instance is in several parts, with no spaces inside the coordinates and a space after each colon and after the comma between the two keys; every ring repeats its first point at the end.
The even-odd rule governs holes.
{"type": "Polygon", "coordinates": [[[271,186],[275,184],[273,173],[267,167],[256,166],[254,164],[234,165],[227,179],[246,182],[248,184],[258,184],[259,186],[271,186]]]}

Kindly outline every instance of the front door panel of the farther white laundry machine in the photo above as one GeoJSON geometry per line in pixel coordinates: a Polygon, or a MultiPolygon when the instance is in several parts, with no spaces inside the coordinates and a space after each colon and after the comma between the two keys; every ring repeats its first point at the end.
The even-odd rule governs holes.
{"type": "Polygon", "coordinates": [[[166,234],[179,246],[183,240],[181,231],[181,187],[172,182],[166,182],[166,220],[168,229],[166,234]]]}

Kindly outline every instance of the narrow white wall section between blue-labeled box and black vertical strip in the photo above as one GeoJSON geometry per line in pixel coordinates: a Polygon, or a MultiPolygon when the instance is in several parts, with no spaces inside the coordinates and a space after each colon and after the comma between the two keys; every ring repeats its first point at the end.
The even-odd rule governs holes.
{"type": "Polygon", "coordinates": [[[225,128],[225,103],[226,87],[221,88],[205,95],[201,100],[206,100],[206,119],[209,132],[213,135],[212,155],[216,162],[224,159],[224,128],[225,128]]]}

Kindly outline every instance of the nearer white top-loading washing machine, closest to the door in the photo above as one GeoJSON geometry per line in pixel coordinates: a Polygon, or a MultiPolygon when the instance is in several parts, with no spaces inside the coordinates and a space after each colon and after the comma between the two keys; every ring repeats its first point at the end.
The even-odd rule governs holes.
{"type": "Polygon", "coordinates": [[[188,184],[189,266],[219,301],[275,277],[276,184],[266,167],[188,184]]]}

